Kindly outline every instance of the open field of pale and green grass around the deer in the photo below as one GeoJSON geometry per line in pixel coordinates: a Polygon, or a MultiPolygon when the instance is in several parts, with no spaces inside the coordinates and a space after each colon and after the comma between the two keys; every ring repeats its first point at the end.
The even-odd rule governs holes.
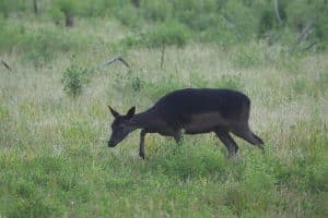
{"type": "Polygon", "coordinates": [[[190,41],[166,47],[161,69],[161,48],[119,49],[133,33],[115,21],[81,19],[72,29],[8,23],[13,33],[20,23],[43,35],[1,52],[12,71],[0,65],[0,217],[328,216],[327,52],[190,41]],[[75,98],[66,94],[68,68],[90,69],[118,52],[130,69],[104,66],[75,98]],[[107,104],[139,112],[183,87],[246,93],[266,154],[236,138],[239,153],[227,159],[213,134],[185,136],[180,147],[153,134],[142,161],[139,131],[107,147],[107,104]]]}

